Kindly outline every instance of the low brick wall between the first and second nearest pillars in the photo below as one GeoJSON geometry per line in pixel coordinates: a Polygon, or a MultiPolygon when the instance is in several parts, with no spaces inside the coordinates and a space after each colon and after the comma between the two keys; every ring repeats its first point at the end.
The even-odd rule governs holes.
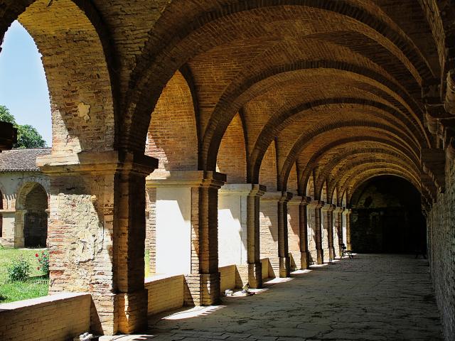
{"type": "Polygon", "coordinates": [[[148,315],[183,307],[185,276],[157,275],[147,278],[145,288],[149,291],[148,315]]]}

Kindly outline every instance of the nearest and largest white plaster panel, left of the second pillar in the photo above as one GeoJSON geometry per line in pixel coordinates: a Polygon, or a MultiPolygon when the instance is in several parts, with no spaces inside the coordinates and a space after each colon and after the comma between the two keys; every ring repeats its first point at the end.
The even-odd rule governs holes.
{"type": "Polygon", "coordinates": [[[191,273],[191,188],[156,189],[156,273],[191,273]]]}

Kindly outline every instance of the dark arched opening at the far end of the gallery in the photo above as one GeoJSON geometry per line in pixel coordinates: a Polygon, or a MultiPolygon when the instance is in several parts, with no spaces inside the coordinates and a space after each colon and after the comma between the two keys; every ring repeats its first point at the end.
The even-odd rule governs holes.
{"type": "Polygon", "coordinates": [[[420,193],[397,176],[378,176],[358,188],[351,200],[351,243],[358,252],[425,251],[427,232],[420,193]]]}

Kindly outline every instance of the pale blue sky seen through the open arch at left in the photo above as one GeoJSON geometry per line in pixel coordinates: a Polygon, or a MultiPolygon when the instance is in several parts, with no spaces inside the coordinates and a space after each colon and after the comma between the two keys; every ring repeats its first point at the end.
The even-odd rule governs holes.
{"type": "Polygon", "coordinates": [[[20,23],[6,32],[0,52],[0,104],[6,105],[18,124],[31,124],[52,142],[48,85],[41,54],[20,23]]]}

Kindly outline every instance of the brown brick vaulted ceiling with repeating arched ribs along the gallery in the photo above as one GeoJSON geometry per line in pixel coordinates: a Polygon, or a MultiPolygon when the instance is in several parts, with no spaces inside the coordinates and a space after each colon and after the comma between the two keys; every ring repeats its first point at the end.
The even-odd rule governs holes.
{"type": "Polygon", "coordinates": [[[439,16],[449,2],[3,0],[0,33],[19,16],[43,53],[56,101],[67,95],[53,73],[56,51],[70,53],[74,72],[82,72],[80,61],[71,58],[99,65],[101,90],[87,92],[102,98],[95,109],[112,112],[100,114],[100,124],[114,121],[100,144],[144,150],[156,103],[178,102],[178,93],[160,99],[178,72],[188,83],[184,102],[193,97],[199,169],[215,170],[225,131],[240,117],[245,180],[262,180],[273,146],[277,180],[269,187],[304,194],[314,177],[316,198],[326,184],[340,202],[374,175],[399,175],[419,188],[420,150],[437,146],[425,127],[422,88],[444,88],[454,67],[446,48],[454,28],[439,16]],[[84,38],[82,53],[65,46],[65,30],[84,38]]]}

